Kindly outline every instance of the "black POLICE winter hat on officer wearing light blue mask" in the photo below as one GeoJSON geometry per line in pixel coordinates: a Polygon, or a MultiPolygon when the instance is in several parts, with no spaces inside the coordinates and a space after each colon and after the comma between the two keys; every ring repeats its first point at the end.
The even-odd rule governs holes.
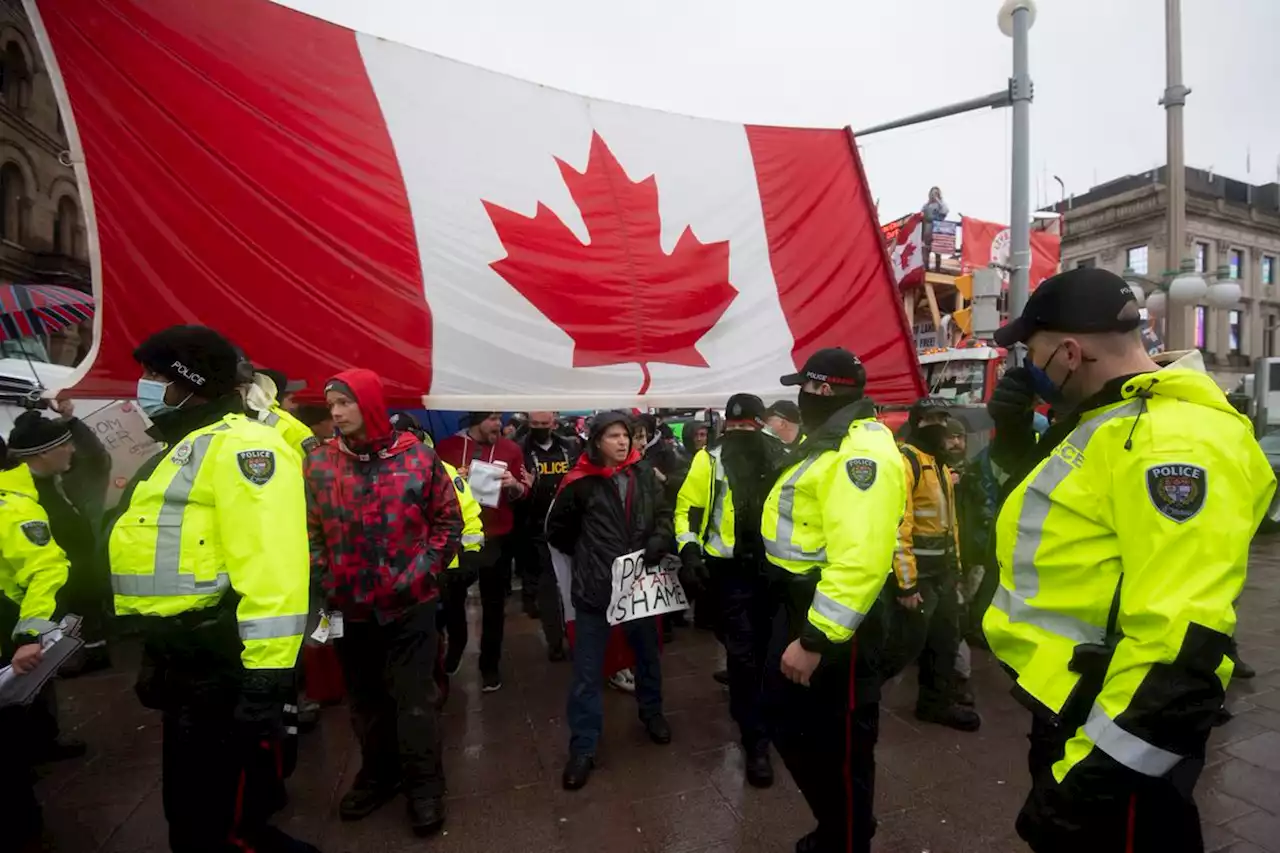
{"type": "Polygon", "coordinates": [[[239,352],[220,333],[204,325],[172,325],[133,351],[133,360],[205,400],[234,393],[239,352]]]}

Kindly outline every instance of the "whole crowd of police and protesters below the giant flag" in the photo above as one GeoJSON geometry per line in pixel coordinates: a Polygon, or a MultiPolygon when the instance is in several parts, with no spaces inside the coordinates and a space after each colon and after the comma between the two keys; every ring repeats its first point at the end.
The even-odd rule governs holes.
{"type": "MultiPolygon", "coordinates": [[[[733,394],[678,438],[634,411],[477,411],[433,442],[372,371],[298,405],[219,332],[174,327],[134,352],[164,450],[111,512],[88,494],[101,447],[68,406],[24,415],[0,447],[4,656],[32,672],[77,612],[77,666],[110,666],[114,613],[143,646],[138,699],[163,713],[172,849],[305,853],[271,824],[280,745],[307,710],[303,643],[333,644],[361,751],[340,817],[403,794],[428,836],[445,822],[439,713],[472,585],[485,693],[503,685],[513,578],[548,660],[572,670],[564,789],[589,784],[609,683],[649,739],[676,736],[660,647],[677,619],[611,621],[614,564],[637,553],[678,566],[694,622],[723,644],[746,781],[773,784],[776,753],[812,808],[797,850],[870,849],[886,679],[915,663],[920,721],[980,727],[973,646],[1032,712],[1018,830],[1033,849],[1198,850],[1190,790],[1233,666],[1245,674],[1233,601],[1275,478],[1212,379],[1155,365],[1138,325],[1108,273],[1046,280],[997,336],[1028,357],[977,453],[943,400],[895,435],[844,348],[781,378],[794,401],[733,394]],[[612,671],[611,640],[630,669],[612,671]]],[[[0,708],[15,838],[38,829],[33,766],[83,751],[59,740],[55,708],[51,686],[0,708]]]]}

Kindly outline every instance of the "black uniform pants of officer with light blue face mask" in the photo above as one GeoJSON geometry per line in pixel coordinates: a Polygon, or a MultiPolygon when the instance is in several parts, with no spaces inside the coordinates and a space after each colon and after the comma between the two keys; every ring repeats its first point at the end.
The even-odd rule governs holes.
{"type": "MultiPolygon", "coordinates": [[[[236,724],[243,669],[234,611],[148,619],[136,688],[163,722],[161,797],[173,853],[287,849],[279,725],[236,724]]],[[[280,697],[283,706],[284,697],[280,697]]]]}

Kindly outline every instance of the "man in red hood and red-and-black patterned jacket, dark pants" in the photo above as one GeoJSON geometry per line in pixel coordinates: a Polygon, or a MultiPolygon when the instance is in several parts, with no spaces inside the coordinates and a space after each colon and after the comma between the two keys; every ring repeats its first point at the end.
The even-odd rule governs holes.
{"type": "Polygon", "coordinates": [[[325,384],[339,438],[306,460],[311,566],[337,640],[360,774],[338,806],[360,820],[403,790],[417,835],[444,825],[436,597],[461,551],[453,478],[392,428],[383,383],[346,370],[325,384]]]}

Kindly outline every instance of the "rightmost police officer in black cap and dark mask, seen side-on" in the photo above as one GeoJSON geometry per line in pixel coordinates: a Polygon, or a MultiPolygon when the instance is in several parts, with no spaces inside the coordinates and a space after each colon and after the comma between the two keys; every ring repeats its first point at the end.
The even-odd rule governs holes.
{"type": "Polygon", "coordinates": [[[1199,355],[1160,369],[1120,277],[1076,269],[996,333],[1027,345],[1025,375],[1059,414],[1001,507],[983,621],[1032,711],[1018,833],[1037,853],[1204,849],[1192,792],[1275,491],[1199,355]]]}

